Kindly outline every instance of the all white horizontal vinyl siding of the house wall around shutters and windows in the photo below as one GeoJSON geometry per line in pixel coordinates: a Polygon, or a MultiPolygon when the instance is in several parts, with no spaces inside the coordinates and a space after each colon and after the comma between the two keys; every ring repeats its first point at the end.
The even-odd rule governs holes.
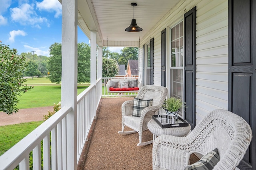
{"type": "MultiPolygon", "coordinates": [[[[214,109],[228,109],[228,0],[181,0],[149,33],[154,37],[154,85],[161,85],[161,31],[183,20],[196,6],[196,123],[214,109]]],[[[167,29],[168,30],[168,29],[167,29]]],[[[167,35],[170,32],[167,32],[167,35]]],[[[166,37],[166,42],[170,38],[166,37]]],[[[140,53],[142,56],[142,52],[140,53]]],[[[167,45],[167,58],[170,49],[167,45]]],[[[142,63],[142,58],[140,58],[142,63]]],[[[166,68],[170,68],[170,61],[166,68]]],[[[142,71],[142,68],[140,69],[142,71]]],[[[167,78],[170,72],[167,73],[167,78]]],[[[142,74],[141,74],[142,75],[142,74]]],[[[169,80],[167,79],[166,82],[169,80]]],[[[170,84],[166,84],[168,87],[170,84]]],[[[170,93],[169,93],[170,95],[170,93]]]]}

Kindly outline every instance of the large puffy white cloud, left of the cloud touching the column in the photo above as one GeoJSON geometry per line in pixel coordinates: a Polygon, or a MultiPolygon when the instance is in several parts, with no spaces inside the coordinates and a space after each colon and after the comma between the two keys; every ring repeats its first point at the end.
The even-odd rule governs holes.
{"type": "Polygon", "coordinates": [[[39,17],[35,10],[34,5],[22,4],[18,8],[11,8],[12,21],[18,22],[21,25],[35,25],[38,27],[38,23],[47,23],[46,18],[39,17]]]}

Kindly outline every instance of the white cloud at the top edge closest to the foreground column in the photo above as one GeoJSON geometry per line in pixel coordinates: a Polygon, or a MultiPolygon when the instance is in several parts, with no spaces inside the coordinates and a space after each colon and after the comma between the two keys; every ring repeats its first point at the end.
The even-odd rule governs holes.
{"type": "Polygon", "coordinates": [[[62,6],[58,0],[43,0],[42,2],[37,2],[36,7],[39,10],[56,12],[54,15],[55,18],[58,18],[62,14],[62,6]]]}

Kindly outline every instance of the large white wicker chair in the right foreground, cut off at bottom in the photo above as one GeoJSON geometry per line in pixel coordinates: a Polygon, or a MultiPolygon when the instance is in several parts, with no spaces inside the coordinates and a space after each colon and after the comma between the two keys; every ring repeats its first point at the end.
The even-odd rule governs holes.
{"type": "Polygon", "coordinates": [[[227,110],[210,112],[186,137],[161,135],[154,141],[153,169],[184,170],[190,164],[190,154],[202,155],[218,148],[220,161],[214,170],[234,170],[252,140],[252,130],[246,121],[227,110]]]}

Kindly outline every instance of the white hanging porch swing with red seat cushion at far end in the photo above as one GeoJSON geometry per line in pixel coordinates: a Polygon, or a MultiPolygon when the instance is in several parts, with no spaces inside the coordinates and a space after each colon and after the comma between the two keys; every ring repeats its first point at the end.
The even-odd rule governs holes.
{"type": "Polygon", "coordinates": [[[137,86],[137,90],[134,90],[134,88],[127,88],[127,89],[125,89],[125,88],[115,88],[115,90],[112,90],[111,89],[111,86],[110,86],[110,84],[111,84],[111,81],[114,81],[114,82],[120,82],[120,81],[124,81],[124,80],[128,80],[128,81],[131,81],[131,80],[138,80],[138,79],[135,79],[135,78],[128,78],[128,79],[110,79],[110,80],[108,80],[108,82],[107,82],[107,84],[106,84],[106,87],[107,87],[107,91],[108,91],[108,93],[130,93],[130,92],[139,92],[139,90],[140,90],[140,88],[141,88],[141,83],[140,83],[140,81],[138,80],[138,82],[137,82],[137,84],[138,84],[138,86],[137,86]],[[129,90],[129,89],[131,89],[131,90],[129,90]]]}

